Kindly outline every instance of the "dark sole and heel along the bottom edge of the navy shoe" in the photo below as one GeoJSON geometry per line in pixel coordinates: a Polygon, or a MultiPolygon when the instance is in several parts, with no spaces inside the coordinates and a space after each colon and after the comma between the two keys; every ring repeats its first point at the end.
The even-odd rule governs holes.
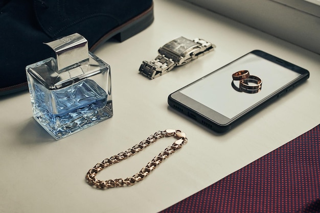
{"type": "MultiPolygon", "coordinates": [[[[119,42],[125,41],[126,39],[134,36],[135,34],[140,33],[145,30],[147,27],[151,25],[154,20],[153,16],[153,4],[151,7],[141,13],[138,16],[130,19],[125,22],[123,25],[111,30],[106,35],[104,35],[101,39],[99,39],[90,49],[90,52],[94,52],[99,46],[105,43],[110,38],[115,38],[119,42]]],[[[7,94],[16,93],[19,91],[24,91],[28,89],[28,82],[0,88],[0,96],[5,96],[7,94]]]]}

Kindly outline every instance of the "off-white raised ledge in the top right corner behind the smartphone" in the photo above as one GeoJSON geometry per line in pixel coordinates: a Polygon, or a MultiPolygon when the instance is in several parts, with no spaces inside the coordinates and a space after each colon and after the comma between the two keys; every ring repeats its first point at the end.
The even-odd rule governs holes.
{"type": "Polygon", "coordinates": [[[320,54],[319,0],[185,0],[320,54]]]}

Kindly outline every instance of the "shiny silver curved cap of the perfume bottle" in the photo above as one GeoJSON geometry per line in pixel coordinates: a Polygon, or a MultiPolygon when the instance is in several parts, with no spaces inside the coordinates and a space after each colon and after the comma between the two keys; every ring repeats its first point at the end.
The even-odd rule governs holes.
{"type": "Polygon", "coordinates": [[[57,72],[89,61],[88,41],[79,33],[44,43],[56,53],[57,72]]]}

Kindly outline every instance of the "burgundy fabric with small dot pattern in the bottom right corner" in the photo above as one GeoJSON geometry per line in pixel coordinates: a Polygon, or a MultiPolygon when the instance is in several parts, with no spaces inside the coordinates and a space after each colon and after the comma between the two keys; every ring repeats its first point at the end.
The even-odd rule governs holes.
{"type": "Polygon", "coordinates": [[[320,212],[320,125],[161,212],[320,212]]]}

